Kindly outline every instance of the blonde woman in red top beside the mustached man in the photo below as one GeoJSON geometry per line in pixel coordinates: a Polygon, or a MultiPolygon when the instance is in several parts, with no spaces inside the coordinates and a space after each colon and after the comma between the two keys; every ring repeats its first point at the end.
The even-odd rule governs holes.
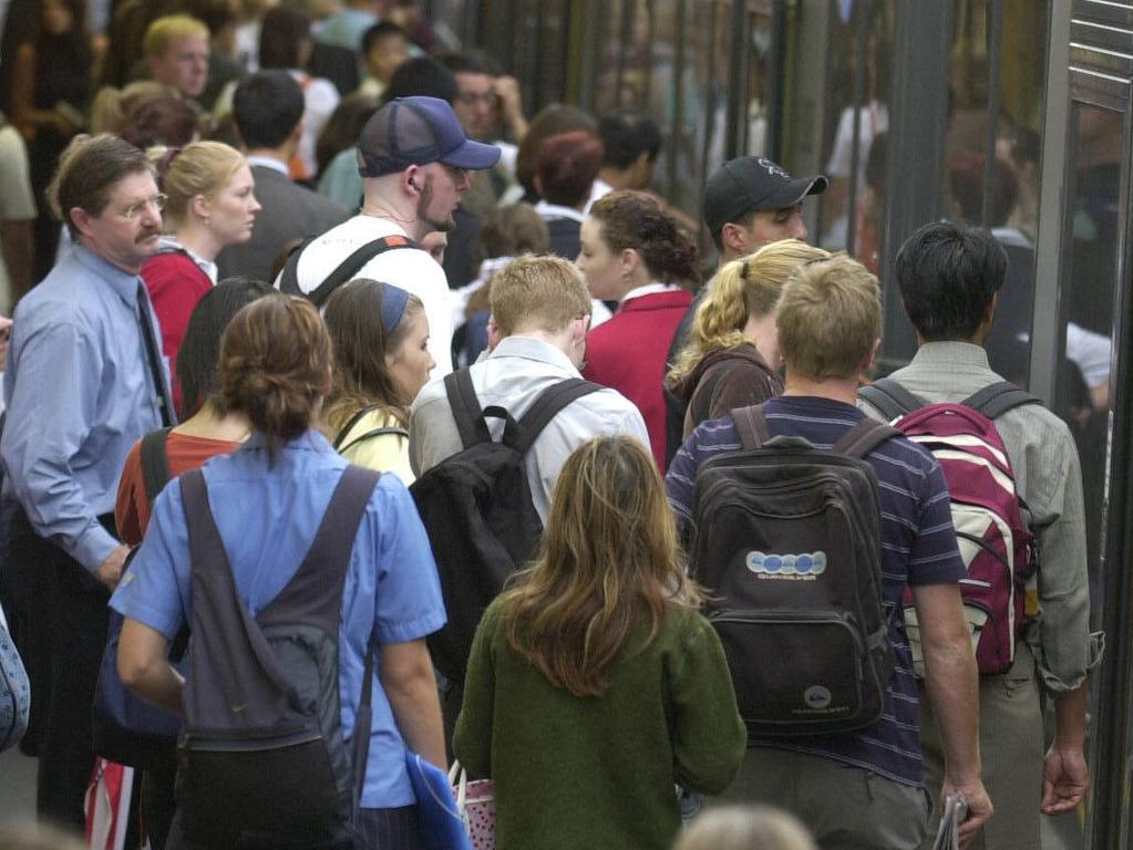
{"type": "MultiPolygon", "coordinates": [[[[189,314],[216,283],[216,255],[252,239],[259,204],[252,170],[233,147],[194,141],[148,153],[165,195],[162,217],[169,235],[164,250],[142,266],[142,280],[161,324],[162,353],[173,363],[189,314]]],[[[180,395],[176,383],[173,394],[180,395]]]]}

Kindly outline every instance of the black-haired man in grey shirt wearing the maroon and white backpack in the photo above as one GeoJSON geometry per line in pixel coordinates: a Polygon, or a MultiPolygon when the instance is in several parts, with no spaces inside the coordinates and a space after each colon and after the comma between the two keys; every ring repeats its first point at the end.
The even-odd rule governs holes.
{"type": "MultiPolygon", "coordinates": [[[[1002,380],[982,343],[1006,265],[1003,247],[987,230],[938,223],[913,233],[901,247],[895,273],[920,347],[889,377],[926,404],[960,402],[1002,380]]],[[[864,401],[859,406],[886,418],[864,401]]],[[[980,754],[996,805],[985,845],[1031,848],[1041,843],[1039,813],[1073,809],[1089,783],[1083,754],[1088,676],[1101,653],[1099,636],[1090,634],[1082,476],[1070,429],[1039,404],[1003,413],[995,427],[1038,535],[1041,616],[1028,604],[1031,617],[1014,663],[1006,672],[980,677],[980,754]],[[1054,697],[1055,737],[1043,758],[1047,694],[1054,697]]],[[[925,699],[920,705],[926,776],[935,791],[939,784],[932,780],[945,766],[932,706],[925,699]]]]}

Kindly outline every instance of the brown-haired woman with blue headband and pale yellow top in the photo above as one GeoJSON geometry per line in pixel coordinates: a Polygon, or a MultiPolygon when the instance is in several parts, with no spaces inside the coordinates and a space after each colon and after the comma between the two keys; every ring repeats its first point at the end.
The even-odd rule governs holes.
{"type": "Polygon", "coordinates": [[[411,483],[409,405],[435,366],[420,299],[358,278],[334,291],[324,319],[334,345],[334,380],[323,414],[326,437],[351,463],[394,472],[411,483]]]}

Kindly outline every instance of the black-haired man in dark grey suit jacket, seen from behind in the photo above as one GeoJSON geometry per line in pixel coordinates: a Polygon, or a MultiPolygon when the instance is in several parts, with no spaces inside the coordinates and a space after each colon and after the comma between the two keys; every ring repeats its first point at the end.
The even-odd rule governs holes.
{"type": "Polygon", "coordinates": [[[284,70],[259,71],[236,89],[232,117],[263,208],[252,239],[225,247],[216,257],[221,277],[241,274],[270,282],[272,260],[281,246],[324,233],[350,216],[344,207],[288,177],[287,163],[303,135],[303,89],[284,70]]]}

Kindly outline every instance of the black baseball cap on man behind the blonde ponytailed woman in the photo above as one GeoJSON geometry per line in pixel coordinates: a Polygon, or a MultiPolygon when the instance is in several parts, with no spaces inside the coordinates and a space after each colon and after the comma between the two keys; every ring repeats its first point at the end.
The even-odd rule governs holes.
{"type": "Polygon", "coordinates": [[[718,233],[752,209],[784,209],[808,195],[821,195],[829,181],[821,174],[791,177],[763,156],[729,160],[705,184],[705,224],[718,233]]]}

